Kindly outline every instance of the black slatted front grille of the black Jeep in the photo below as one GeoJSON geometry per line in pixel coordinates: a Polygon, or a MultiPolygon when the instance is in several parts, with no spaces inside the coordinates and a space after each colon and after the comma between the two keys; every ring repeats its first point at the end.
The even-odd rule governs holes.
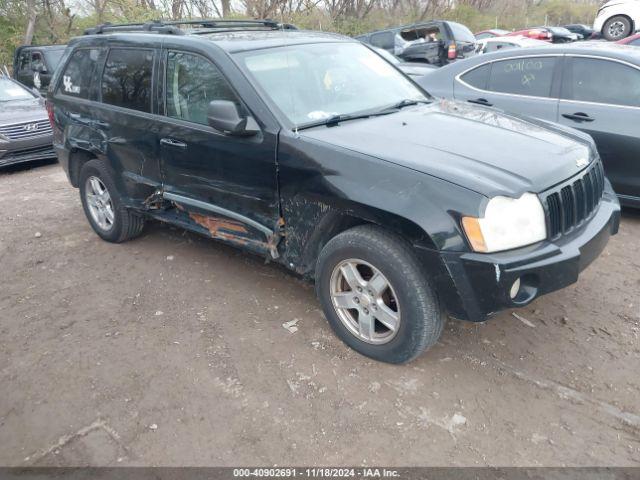
{"type": "Polygon", "coordinates": [[[568,182],[545,192],[547,231],[555,239],[582,225],[596,211],[604,192],[604,170],[600,160],[568,182]]]}

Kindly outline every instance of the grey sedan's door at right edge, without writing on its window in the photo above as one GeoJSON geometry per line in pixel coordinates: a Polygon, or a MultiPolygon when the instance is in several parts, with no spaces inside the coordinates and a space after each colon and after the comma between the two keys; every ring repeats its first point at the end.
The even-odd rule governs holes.
{"type": "Polygon", "coordinates": [[[593,137],[619,195],[640,198],[640,67],[568,56],[560,123],[593,137]]]}

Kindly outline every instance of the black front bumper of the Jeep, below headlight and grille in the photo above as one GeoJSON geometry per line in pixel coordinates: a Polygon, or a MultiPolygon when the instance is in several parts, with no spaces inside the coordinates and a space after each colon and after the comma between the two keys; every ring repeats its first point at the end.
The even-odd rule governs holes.
{"type": "Polygon", "coordinates": [[[607,182],[594,216],[554,242],[494,254],[440,252],[448,274],[435,280],[441,300],[452,316],[476,322],[500,310],[527,305],[575,283],[619,225],[620,204],[607,182]],[[517,279],[522,286],[512,299],[509,292],[517,279]]]}

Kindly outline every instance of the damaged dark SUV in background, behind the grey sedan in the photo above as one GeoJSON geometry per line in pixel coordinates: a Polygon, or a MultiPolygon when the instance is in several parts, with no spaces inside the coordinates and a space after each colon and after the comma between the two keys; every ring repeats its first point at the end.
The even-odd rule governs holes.
{"type": "Polygon", "coordinates": [[[355,37],[383,48],[405,62],[446,65],[475,55],[476,37],[460,23],[432,20],[378,30],[355,37]]]}

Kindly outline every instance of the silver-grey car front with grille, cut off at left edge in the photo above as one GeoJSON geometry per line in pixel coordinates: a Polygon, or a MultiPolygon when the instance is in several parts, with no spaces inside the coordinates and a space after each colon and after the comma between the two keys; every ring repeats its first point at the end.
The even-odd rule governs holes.
{"type": "Polygon", "coordinates": [[[55,158],[44,100],[21,84],[0,77],[0,167],[55,158]]]}

